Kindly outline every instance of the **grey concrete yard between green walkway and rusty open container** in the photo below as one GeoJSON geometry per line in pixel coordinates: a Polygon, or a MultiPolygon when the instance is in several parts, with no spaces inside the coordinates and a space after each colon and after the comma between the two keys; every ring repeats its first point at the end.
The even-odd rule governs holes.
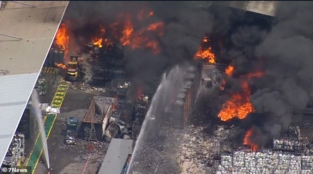
{"type": "MultiPolygon", "coordinates": [[[[105,94],[98,94],[105,96],[105,94]]],[[[66,145],[66,118],[78,117],[79,125],[96,94],[69,89],[48,139],[50,174],[96,174],[109,144],[78,139],[77,145],[66,145]]],[[[42,157],[41,157],[42,158],[42,157]]],[[[45,174],[45,163],[39,163],[35,174],[45,174]]]]}

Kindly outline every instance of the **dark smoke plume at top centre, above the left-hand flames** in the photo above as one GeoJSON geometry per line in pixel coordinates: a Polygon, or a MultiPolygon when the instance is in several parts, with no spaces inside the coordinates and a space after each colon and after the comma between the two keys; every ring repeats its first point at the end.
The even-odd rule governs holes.
{"type": "Polygon", "coordinates": [[[211,32],[212,17],[208,12],[191,8],[193,5],[193,2],[177,1],[73,1],[66,19],[70,19],[74,33],[83,33],[88,39],[97,32],[99,24],[106,26],[113,22],[123,22],[120,21],[120,14],[131,14],[135,31],[146,27],[149,22],[163,22],[164,35],[157,38],[161,47],[159,55],[154,55],[148,49],[134,51],[126,48],[124,52],[131,73],[137,79],[146,80],[159,76],[164,68],[193,59],[202,36],[211,32]],[[148,21],[136,20],[142,9],[153,10],[152,18],[148,21]]]}

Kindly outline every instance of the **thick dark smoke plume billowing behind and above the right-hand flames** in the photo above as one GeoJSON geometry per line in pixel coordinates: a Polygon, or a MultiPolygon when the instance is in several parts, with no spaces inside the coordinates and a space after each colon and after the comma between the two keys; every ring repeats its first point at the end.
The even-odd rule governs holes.
{"type": "MultiPolygon", "coordinates": [[[[304,108],[310,101],[313,66],[313,3],[280,2],[275,22],[269,28],[260,24],[236,27],[231,34],[227,56],[238,75],[263,70],[265,75],[250,80],[250,97],[258,117],[255,141],[264,145],[286,130],[292,121],[292,108],[304,108]]],[[[230,17],[231,19],[231,17],[230,17]]],[[[271,21],[269,21],[271,23],[271,21]]]]}

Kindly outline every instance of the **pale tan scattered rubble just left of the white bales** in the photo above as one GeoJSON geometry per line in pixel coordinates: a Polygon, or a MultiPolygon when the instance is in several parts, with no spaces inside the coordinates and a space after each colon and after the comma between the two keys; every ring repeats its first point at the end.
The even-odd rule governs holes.
{"type": "Polygon", "coordinates": [[[186,128],[177,154],[182,174],[212,172],[213,158],[221,151],[232,149],[227,140],[239,133],[238,128],[226,129],[226,126],[217,126],[212,134],[207,134],[204,130],[205,127],[186,128]]]}

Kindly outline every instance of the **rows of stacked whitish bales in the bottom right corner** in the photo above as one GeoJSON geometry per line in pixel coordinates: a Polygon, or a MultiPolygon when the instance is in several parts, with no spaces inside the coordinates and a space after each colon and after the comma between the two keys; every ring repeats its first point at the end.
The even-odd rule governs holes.
{"type": "Polygon", "coordinates": [[[222,154],[216,174],[312,174],[313,156],[299,153],[236,150],[222,154]]]}

